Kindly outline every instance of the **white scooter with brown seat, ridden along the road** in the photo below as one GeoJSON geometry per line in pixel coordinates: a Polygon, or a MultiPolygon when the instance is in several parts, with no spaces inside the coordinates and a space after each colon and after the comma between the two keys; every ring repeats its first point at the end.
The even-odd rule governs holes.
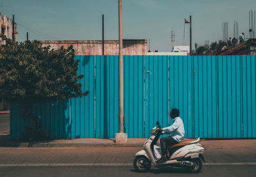
{"type": "Polygon", "coordinates": [[[171,146],[168,149],[168,160],[162,164],[157,164],[156,155],[154,153],[154,145],[156,145],[161,132],[157,132],[160,129],[159,122],[154,127],[150,134],[150,138],[143,145],[143,149],[137,152],[134,156],[133,166],[138,172],[147,172],[151,164],[154,166],[173,166],[184,167],[188,169],[190,173],[199,173],[202,169],[202,161],[205,162],[202,152],[204,152],[204,146],[199,144],[200,138],[192,139],[188,141],[182,141],[176,145],[171,146]]]}

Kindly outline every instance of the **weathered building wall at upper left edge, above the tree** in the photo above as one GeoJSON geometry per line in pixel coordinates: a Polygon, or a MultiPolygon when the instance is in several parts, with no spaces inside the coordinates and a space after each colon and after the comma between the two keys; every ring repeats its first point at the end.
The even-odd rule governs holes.
{"type": "MultiPolygon", "coordinates": [[[[17,31],[17,24],[14,24],[14,31],[17,31]]],[[[0,33],[3,33],[7,38],[12,39],[12,20],[0,13],[0,33]]],[[[17,41],[17,34],[14,34],[15,41],[17,41]]],[[[1,41],[0,41],[1,43],[1,41]]]]}

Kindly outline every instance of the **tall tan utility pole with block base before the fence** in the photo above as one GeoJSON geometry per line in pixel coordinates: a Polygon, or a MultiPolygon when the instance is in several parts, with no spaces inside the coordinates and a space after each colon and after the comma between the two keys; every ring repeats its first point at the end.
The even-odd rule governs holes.
{"type": "Polygon", "coordinates": [[[126,143],[124,133],[124,74],[123,74],[123,35],[122,35],[122,0],[118,0],[119,24],[119,133],[116,133],[116,143],[126,143]]]}

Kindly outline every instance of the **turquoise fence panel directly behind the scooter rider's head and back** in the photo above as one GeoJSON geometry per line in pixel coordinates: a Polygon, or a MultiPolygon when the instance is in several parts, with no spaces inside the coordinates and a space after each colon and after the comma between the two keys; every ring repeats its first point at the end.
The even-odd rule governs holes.
{"type": "MultiPolygon", "coordinates": [[[[193,117],[193,57],[170,56],[170,108],[179,108],[185,137],[195,137],[193,117]]],[[[170,121],[172,124],[172,120],[170,121]]]]}

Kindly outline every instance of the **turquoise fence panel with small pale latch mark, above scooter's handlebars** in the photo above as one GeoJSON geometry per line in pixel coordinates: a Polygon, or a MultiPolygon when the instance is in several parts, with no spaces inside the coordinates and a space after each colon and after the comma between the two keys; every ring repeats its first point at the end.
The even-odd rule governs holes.
{"type": "Polygon", "coordinates": [[[145,56],[145,136],[148,137],[157,120],[168,126],[169,57],[145,56]]]}

